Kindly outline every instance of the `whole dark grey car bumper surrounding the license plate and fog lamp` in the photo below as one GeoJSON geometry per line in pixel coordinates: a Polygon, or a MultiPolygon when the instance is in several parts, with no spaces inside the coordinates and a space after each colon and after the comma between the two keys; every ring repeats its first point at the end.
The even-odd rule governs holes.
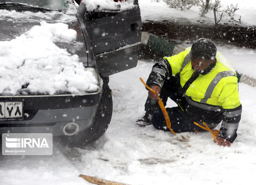
{"type": "Polygon", "coordinates": [[[0,97],[0,101],[23,101],[24,119],[0,121],[0,133],[52,133],[64,135],[63,127],[76,123],[78,132],[93,124],[102,95],[102,83],[96,93],[84,95],[0,97]]]}

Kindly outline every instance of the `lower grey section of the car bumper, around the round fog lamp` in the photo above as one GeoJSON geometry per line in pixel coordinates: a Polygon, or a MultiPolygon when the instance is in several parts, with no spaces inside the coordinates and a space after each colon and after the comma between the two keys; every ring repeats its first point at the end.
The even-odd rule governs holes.
{"type": "MultiPolygon", "coordinates": [[[[52,133],[64,135],[63,127],[68,123],[77,123],[79,131],[90,127],[97,106],[71,109],[38,110],[31,120],[8,121],[0,123],[1,133],[52,133]]],[[[78,131],[78,132],[79,132],[78,131]]]]}

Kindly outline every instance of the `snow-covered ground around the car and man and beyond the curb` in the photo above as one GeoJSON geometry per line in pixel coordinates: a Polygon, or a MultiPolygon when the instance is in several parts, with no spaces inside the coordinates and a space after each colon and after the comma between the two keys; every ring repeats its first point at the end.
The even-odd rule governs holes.
{"type": "MultiPolygon", "coordinates": [[[[160,3],[160,9],[153,1],[156,2],[139,0],[142,20],[160,20],[173,15],[171,9],[169,14],[163,11],[169,10],[163,9],[166,5],[160,3]]],[[[244,21],[255,24],[254,1],[232,1],[233,4],[238,2],[248,13],[244,21]]],[[[197,16],[196,13],[190,12],[190,17],[197,16]]],[[[187,12],[180,12],[182,14],[190,18],[187,12]]],[[[217,48],[238,72],[255,76],[254,50],[231,46],[217,48]]],[[[147,98],[147,90],[139,77],[146,80],[152,65],[153,62],[140,60],[136,68],[110,76],[114,110],[102,138],[84,149],[69,149],[69,159],[56,145],[52,156],[0,156],[0,184],[90,184],[78,177],[84,174],[131,185],[254,185],[256,87],[239,83],[243,112],[238,136],[231,147],[220,147],[213,143],[209,132],[175,136],[156,130],[152,125],[136,126],[136,120],[143,116],[147,98]]],[[[169,101],[167,106],[176,105],[169,101]]]]}

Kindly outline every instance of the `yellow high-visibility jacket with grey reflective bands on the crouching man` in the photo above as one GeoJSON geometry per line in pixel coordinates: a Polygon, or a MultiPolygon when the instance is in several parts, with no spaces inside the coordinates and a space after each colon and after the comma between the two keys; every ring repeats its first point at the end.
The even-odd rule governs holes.
{"type": "MultiPolygon", "coordinates": [[[[187,48],[171,57],[164,57],[164,60],[159,62],[162,67],[153,67],[152,72],[164,78],[180,73],[180,85],[183,87],[194,72],[190,49],[187,48]]],[[[153,83],[161,87],[164,79],[158,78],[153,83]]],[[[200,74],[187,88],[184,96],[186,106],[181,108],[185,113],[201,116],[204,122],[207,120],[216,122],[210,123],[208,125],[210,128],[216,127],[223,120],[219,136],[231,142],[235,140],[242,105],[239,101],[235,69],[220,52],[217,51],[216,54],[216,65],[208,73],[200,74]]]]}

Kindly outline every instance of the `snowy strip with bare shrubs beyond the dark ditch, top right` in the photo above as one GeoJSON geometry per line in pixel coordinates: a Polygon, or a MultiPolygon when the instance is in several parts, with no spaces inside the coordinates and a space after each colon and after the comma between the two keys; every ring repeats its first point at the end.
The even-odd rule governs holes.
{"type": "MultiPolygon", "coordinates": [[[[200,2],[200,1],[199,1],[200,2]]],[[[205,0],[204,0],[205,2],[205,0]]],[[[214,3],[215,0],[210,2],[214,3]]],[[[227,8],[230,5],[238,6],[238,10],[235,12],[234,19],[238,21],[241,16],[241,23],[237,23],[230,19],[227,13],[223,13],[224,17],[220,20],[220,23],[237,23],[238,25],[256,25],[256,3],[254,0],[220,0],[220,11],[227,8]]],[[[163,21],[163,20],[175,20],[175,21],[185,21],[181,18],[186,18],[187,21],[193,23],[199,23],[204,21],[204,23],[209,25],[214,25],[214,15],[213,10],[210,10],[205,17],[199,16],[199,6],[192,6],[190,9],[174,9],[170,8],[164,0],[139,0],[140,9],[142,12],[142,21],[153,20],[153,21],[163,21]]]]}

